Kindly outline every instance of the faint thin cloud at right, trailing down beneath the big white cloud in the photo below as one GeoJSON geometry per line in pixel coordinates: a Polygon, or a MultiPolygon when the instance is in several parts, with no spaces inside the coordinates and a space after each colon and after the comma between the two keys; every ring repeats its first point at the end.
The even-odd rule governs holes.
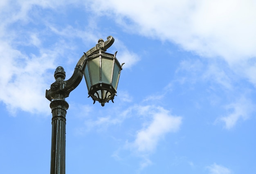
{"type": "MultiPolygon", "coordinates": [[[[245,68],[245,72],[249,70],[245,68]]],[[[255,111],[255,106],[247,94],[250,91],[247,84],[239,82],[243,75],[232,71],[223,61],[207,61],[203,64],[199,60],[185,60],[181,62],[176,73],[178,73],[178,81],[182,84],[185,82],[206,84],[205,90],[209,93],[208,99],[212,105],[225,102],[227,114],[216,119],[215,123],[225,123],[226,129],[233,128],[239,120],[248,119],[255,111]]],[[[222,106],[223,104],[220,107],[222,106]]]]}

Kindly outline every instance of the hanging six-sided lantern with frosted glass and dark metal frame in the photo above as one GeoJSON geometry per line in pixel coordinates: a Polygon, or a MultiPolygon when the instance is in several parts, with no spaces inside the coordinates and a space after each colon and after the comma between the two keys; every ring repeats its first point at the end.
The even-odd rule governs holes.
{"type": "MultiPolygon", "coordinates": [[[[101,48],[96,53],[86,55],[83,75],[88,88],[89,97],[94,103],[99,101],[101,106],[112,100],[117,93],[117,85],[122,66],[113,55],[105,53],[101,48]]],[[[122,64],[123,65],[123,64],[122,64]]],[[[93,104],[94,104],[93,103],[93,104]]]]}

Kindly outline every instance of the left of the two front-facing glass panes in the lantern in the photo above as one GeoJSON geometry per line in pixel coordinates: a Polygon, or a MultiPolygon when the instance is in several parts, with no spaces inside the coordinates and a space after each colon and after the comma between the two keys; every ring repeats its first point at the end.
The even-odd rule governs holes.
{"type": "Polygon", "coordinates": [[[99,83],[99,57],[96,57],[94,59],[88,59],[89,64],[89,70],[90,70],[90,76],[92,79],[92,84],[95,85],[99,83]]]}

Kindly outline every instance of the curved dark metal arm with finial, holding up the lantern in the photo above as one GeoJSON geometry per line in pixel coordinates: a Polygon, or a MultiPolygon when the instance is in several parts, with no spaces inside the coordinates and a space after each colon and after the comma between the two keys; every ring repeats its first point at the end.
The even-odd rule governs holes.
{"type": "Polygon", "coordinates": [[[83,68],[85,64],[85,59],[87,56],[92,55],[93,53],[97,52],[99,49],[102,51],[107,51],[107,49],[114,43],[115,39],[112,36],[107,37],[107,41],[104,42],[103,39],[99,39],[98,44],[91,48],[89,51],[84,53],[82,57],[79,59],[79,61],[76,64],[76,68],[74,70],[74,73],[70,79],[64,81],[65,76],[63,73],[55,73],[54,77],[56,77],[56,81],[51,85],[51,88],[49,90],[46,90],[45,97],[49,100],[52,101],[52,99],[55,99],[55,95],[62,93],[64,97],[68,97],[70,92],[74,90],[81,82],[83,79],[83,68]],[[63,77],[62,77],[63,76],[63,77]],[[59,78],[61,77],[61,78],[59,78]]]}

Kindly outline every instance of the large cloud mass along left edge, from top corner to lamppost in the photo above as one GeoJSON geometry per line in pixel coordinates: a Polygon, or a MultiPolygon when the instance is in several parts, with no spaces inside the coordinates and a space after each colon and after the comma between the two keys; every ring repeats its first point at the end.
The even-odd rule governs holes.
{"type": "Polygon", "coordinates": [[[48,80],[54,78],[50,78],[53,75],[49,76],[48,70],[55,68],[54,62],[63,55],[62,48],[65,47],[65,44],[56,42],[51,48],[44,48],[41,45],[44,32],[27,30],[33,5],[48,7],[45,2],[34,1],[14,4],[8,1],[0,6],[0,100],[14,115],[18,109],[49,113],[49,103],[44,96],[50,85],[48,80]],[[23,22],[17,24],[17,21],[23,22]],[[12,28],[12,25],[16,27],[12,28]],[[26,52],[27,46],[36,53],[26,52]]]}

